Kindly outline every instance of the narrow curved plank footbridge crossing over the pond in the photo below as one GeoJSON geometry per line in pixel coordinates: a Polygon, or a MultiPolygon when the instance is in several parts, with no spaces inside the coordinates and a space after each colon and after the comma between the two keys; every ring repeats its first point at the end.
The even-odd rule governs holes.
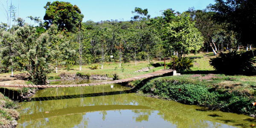
{"type": "Polygon", "coordinates": [[[135,76],[132,78],[114,80],[114,81],[104,81],[99,83],[90,83],[90,84],[75,84],[75,85],[32,85],[32,84],[1,84],[0,87],[38,87],[38,88],[51,88],[51,87],[81,87],[81,86],[93,86],[93,85],[102,85],[102,84],[118,84],[123,82],[135,81],[139,79],[151,78],[154,76],[161,75],[175,75],[176,70],[159,70],[153,73],[147,73],[140,76],[135,76]]]}

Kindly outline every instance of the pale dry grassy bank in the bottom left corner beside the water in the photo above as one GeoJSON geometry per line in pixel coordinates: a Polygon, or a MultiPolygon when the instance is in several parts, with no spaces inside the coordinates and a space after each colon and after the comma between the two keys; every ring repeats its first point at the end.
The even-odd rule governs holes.
{"type": "Polygon", "coordinates": [[[0,128],[15,128],[19,113],[17,104],[0,93],[0,128]]]}

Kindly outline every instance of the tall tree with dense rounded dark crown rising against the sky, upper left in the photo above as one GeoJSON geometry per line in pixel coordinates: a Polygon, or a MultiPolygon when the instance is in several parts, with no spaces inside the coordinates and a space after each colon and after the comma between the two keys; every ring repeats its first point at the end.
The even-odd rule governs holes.
{"type": "Polygon", "coordinates": [[[61,31],[75,32],[84,17],[78,6],[73,6],[69,2],[47,2],[44,9],[46,9],[44,25],[48,28],[51,24],[55,24],[61,31]]]}

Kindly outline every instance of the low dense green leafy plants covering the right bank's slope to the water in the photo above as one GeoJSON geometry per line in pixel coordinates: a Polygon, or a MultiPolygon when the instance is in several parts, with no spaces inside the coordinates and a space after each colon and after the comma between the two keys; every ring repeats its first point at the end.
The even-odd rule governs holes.
{"type": "MultiPolygon", "coordinates": [[[[140,83],[137,83],[140,84],[140,83]]],[[[220,109],[247,115],[256,113],[251,103],[255,99],[244,93],[217,90],[204,84],[192,84],[177,80],[155,80],[140,88],[143,93],[150,93],[164,99],[172,99],[188,105],[201,105],[209,109],[220,109]]]]}

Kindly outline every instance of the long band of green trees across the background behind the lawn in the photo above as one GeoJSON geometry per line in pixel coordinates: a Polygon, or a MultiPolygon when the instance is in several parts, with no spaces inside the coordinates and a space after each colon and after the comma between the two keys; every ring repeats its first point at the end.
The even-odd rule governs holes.
{"type": "MultiPolygon", "coordinates": [[[[234,25],[232,19],[224,20],[238,13],[223,13],[227,7],[234,8],[230,1],[216,0],[216,4],[207,9],[190,8],[183,13],[166,9],[159,17],[151,17],[147,9],[136,7],[130,21],[100,22],[82,22],[84,15],[78,6],[55,1],[44,6],[44,22],[40,17],[29,17],[38,26],[14,17],[15,8],[10,6],[6,14],[11,18],[0,25],[0,72],[26,70],[32,82],[46,84],[46,74],[53,69],[57,73],[58,67],[68,69],[80,65],[81,70],[81,65],[93,63],[100,63],[104,68],[105,62],[111,62],[111,55],[121,67],[121,63],[129,61],[135,61],[136,65],[137,61],[149,63],[153,58],[182,57],[208,49],[217,54],[220,50],[237,49],[241,45],[251,46],[254,43],[252,38],[248,39],[248,32],[237,29],[241,23],[234,25]]],[[[254,14],[252,11],[244,15],[254,14]]],[[[250,27],[255,29],[253,25],[250,27]]]]}

